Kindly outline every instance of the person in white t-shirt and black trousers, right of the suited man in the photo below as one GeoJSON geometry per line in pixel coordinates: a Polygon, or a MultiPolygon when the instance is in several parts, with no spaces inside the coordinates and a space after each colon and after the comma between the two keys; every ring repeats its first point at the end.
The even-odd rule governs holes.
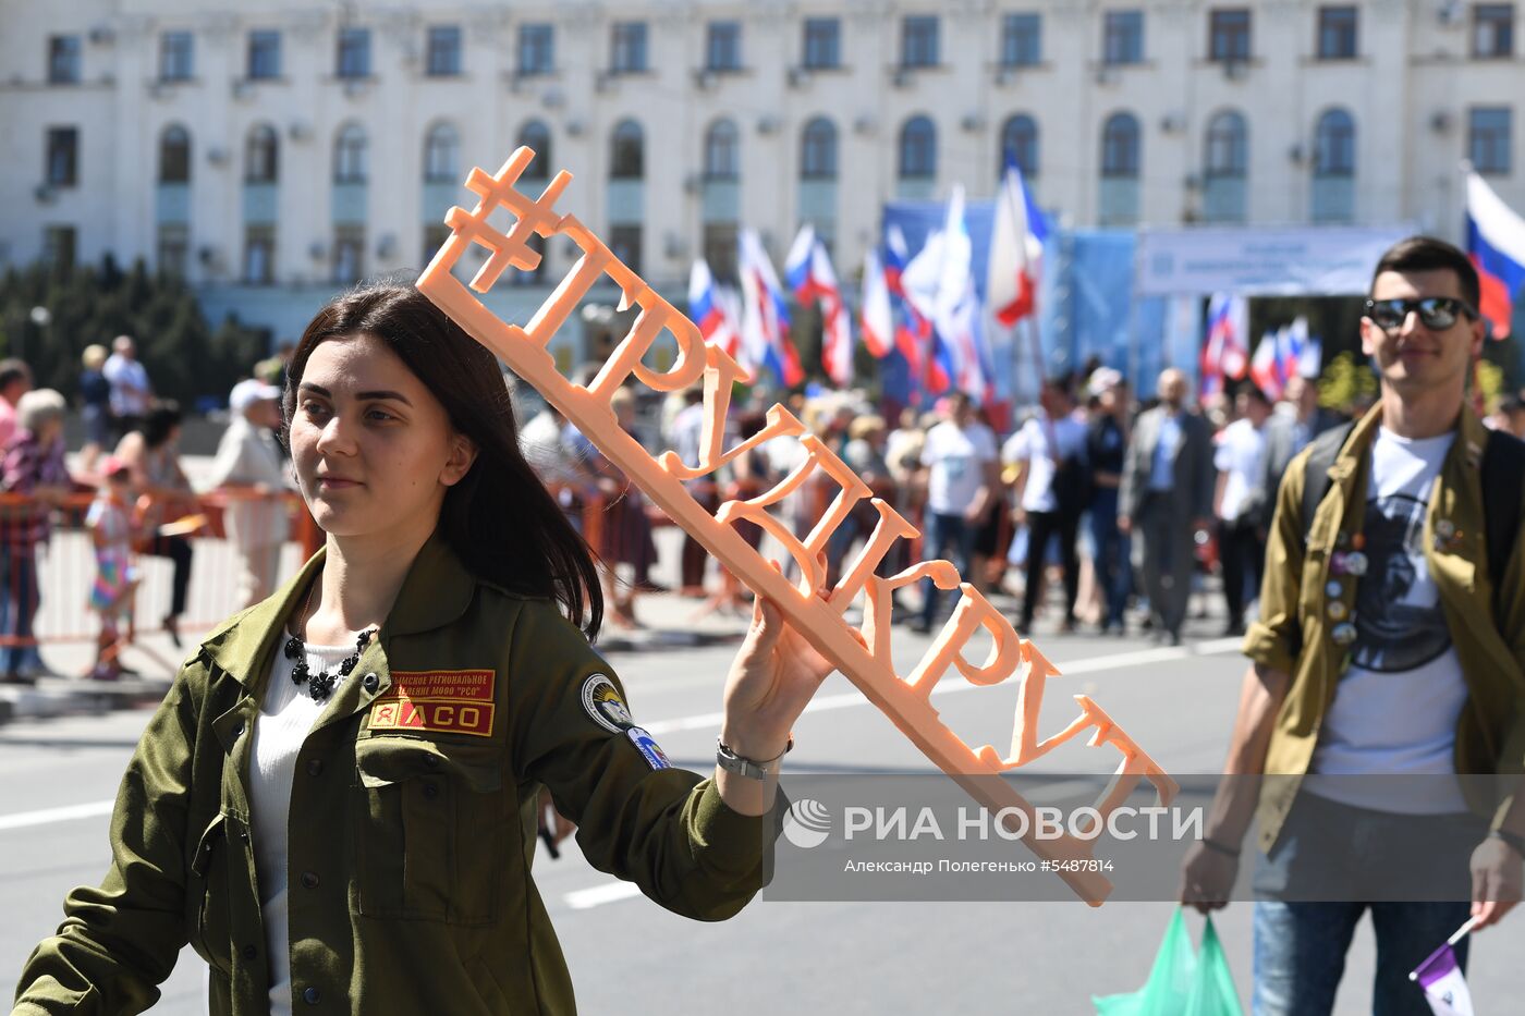
{"type": "Polygon", "coordinates": [[[1218,561],[1229,609],[1225,635],[1244,635],[1244,604],[1260,590],[1266,571],[1266,531],[1252,505],[1260,502],[1257,485],[1266,471],[1270,400],[1250,384],[1240,389],[1234,401],[1238,420],[1223,429],[1212,453],[1212,465],[1218,470],[1212,514],[1218,519],[1218,561]]]}

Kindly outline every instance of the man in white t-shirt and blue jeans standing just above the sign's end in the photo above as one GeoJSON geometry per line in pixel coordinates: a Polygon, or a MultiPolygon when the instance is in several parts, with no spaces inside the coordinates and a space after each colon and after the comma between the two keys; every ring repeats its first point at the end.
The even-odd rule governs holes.
{"type": "MultiPolygon", "coordinates": [[[[994,505],[1000,484],[996,468],[996,438],[990,427],[974,420],[974,403],[964,392],[949,397],[947,418],[927,432],[921,449],[927,474],[927,508],[921,520],[921,560],[953,554],[959,574],[968,571],[974,532],[994,505]]],[[[918,632],[932,630],[938,610],[938,587],[921,581],[918,632]]]]}

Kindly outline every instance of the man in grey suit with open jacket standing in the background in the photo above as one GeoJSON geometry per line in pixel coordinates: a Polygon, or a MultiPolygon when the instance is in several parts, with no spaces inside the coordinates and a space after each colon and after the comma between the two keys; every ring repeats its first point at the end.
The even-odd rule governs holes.
{"type": "MultiPolygon", "coordinates": [[[[1186,409],[1186,375],[1159,375],[1159,406],[1139,415],[1122,461],[1118,528],[1133,535],[1154,638],[1180,644],[1197,529],[1212,510],[1212,435],[1186,409]]],[[[1138,560],[1135,558],[1135,560],[1138,560]]]]}

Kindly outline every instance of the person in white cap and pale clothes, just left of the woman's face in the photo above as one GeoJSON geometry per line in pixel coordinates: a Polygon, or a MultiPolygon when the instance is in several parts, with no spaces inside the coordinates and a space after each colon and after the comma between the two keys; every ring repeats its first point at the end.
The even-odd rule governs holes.
{"type": "Polygon", "coordinates": [[[281,427],[281,389],[253,378],[239,381],[227,407],[233,420],[218,441],[203,490],[229,493],[223,525],[239,557],[238,606],[252,607],[274,592],[281,548],[291,531],[281,499],[288,470],[271,436],[281,427]]]}

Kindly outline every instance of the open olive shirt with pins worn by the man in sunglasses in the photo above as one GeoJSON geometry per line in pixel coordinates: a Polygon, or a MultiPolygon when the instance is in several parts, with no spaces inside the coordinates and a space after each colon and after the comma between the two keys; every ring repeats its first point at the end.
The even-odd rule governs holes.
{"type": "MultiPolygon", "coordinates": [[[[1266,578],[1260,619],[1244,636],[1244,654],[1292,676],[1276,712],[1264,772],[1292,780],[1267,780],[1257,819],[1260,847],[1269,851],[1292,809],[1299,780],[1308,770],[1319,726],[1334,700],[1348,664],[1348,648],[1333,639],[1328,619],[1331,558],[1344,549],[1340,534],[1357,534],[1366,513],[1371,444],[1382,424],[1379,404],[1362,418],[1330,465],[1328,493],[1312,525],[1302,520],[1302,488],[1312,447],[1287,468],[1276,496],[1276,514],[1266,545],[1266,578]]],[[[1441,462],[1424,516],[1424,560],[1440,590],[1441,609],[1467,682],[1467,705],[1456,720],[1458,773],[1519,773],[1525,770],[1525,539],[1514,543],[1504,575],[1488,575],[1482,514],[1482,447],[1487,430],[1462,407],[1456,441],[1441,462]],[[1447,522],[1453,540],[1437,545],[1437,523],[1447,522]],[[1494,581],[1498,587],[1494,589],[1494,581]]],[[[1525,516],[1522,516],[1525,519],[1525,516]]],[[[1444,526],[1441,526],[1444,529],[1444,526]]],[[[1356,583],[1339,583],[1347,616],[1356,609],[1356,583]]],[[[1502,810],[1504,793],[1478,796],[1464,781],[1469,804],[1479,813],[1502,810]]],[[[1505,801],[1507,804],[1507,801],[1505,801]]]]}

